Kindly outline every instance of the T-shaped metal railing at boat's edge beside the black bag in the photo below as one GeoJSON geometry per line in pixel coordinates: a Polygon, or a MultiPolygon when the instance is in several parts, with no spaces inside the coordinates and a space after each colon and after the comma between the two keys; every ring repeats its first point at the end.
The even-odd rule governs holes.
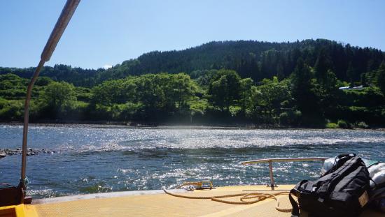
{"type": "Polygon", "coordinates": [[[254,164],[254,163],[269,163],[269,174],[270,174],[270,186],[274,190],[275,181],[273,174],[273,162],[297,162],[297,161],[322,161],[322,163],[328,158],[316,157],[316,158],[265,158],[257,160],[249,160],[241,162],[242,165],[254,164]]]}

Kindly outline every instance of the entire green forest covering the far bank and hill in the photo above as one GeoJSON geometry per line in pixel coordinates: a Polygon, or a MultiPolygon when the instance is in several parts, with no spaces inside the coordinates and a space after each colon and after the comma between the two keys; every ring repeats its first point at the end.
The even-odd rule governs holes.
{"type": "MultiPolygon", "coordinates": [[[[0,121],[22,120],[33,72],[0,68],[0,121]]],[[[45,66],[30,119],[367,128],[384,126],[384,93],[381,50],[324,39],[211,42],[109,69],[45,66]]]]}

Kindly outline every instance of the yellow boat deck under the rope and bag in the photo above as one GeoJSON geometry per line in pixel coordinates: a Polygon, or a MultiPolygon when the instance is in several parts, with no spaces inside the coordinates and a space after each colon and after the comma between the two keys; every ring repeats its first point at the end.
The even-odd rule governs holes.
{"type": "MultiPolygon", "coordinates": [[[[289,190],[293,186],[279,186],[276,191],[289,190]]],[[[249,190],[272,193],[266,186],[227,186],[212,190],[179,192],[189,196],[214,196],[251,193],[249,190]]],[[[277,196],[281,208],[290,208],[288,195],[277,196]]],[[[239,197],[226,198],[239,201],[239,197]]],[[[32,204],[16,206],[15,215],[9,216],[290,216],[277,211],[276,201],[266,199],[255,204],[225,204],[211,200],[186,199],[162,193],[139,191],[125,193],[101,193],[35,200],[32,204]]],[[[2,215],[0,208],[0,216],[2,215]]],[[[10,208],[10,207],[8,207],[10,208]]],[[[4,211],[4,210],[3,210],[4,211]]],[[[3,214],[6,214],[4,211],[3,214]]],[[[306,216],[301,215],[301,216],[306,216]]],[[[367,210],[361,216],[384,216],[367,210]]]]}

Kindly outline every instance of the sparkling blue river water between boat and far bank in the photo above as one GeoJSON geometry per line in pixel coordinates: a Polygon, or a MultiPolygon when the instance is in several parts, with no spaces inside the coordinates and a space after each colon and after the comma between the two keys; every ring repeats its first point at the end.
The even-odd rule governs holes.
{"type": "MultiPolygon", "coordinates": [[[[0,125],[0,149],[21,147],[22,126],[0,125]]],[[[211,179],[216,186],[267,184],[255,158],[356,153],[385,161],[385,131],[30,126],[29,148],[55,154],[27,158],[34,198],[79,193],[173,188],[211,179]]],[[[0,159],[0,183],[17,185],[21,156],[0,159]]],[[[316,179],[321,163],[274,163],[277,184],[316,179]]]]}

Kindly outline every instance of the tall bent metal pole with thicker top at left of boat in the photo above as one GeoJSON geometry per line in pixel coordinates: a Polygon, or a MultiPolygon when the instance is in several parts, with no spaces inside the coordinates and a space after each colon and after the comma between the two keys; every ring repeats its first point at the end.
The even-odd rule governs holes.
{"type": "MultiPolygon", "coordinates": [[[[57,19],[55,28],[52,30],[52,33],[50,34],[50,38],[48,39],[47,43],[45,44],[44,50],[41,53],[40,62],[38,63],[38,66],[34,72],[34,75],[31,78],[31,82],[29,82],[28,84],[27,97],[25,98],[25,107],[24,107],[24,128],[22,131],[22,173],[21,173],[21,179],[20,179],[20,186],[22,187],[23,190],[25,190],[27,187],[25,171],[27,167],[27,136],[28,136],[28,121],[29,121],[29,102],[31,100],[31,91],[32,91],[32,88],[34,87],[34,83],[38,78],[38,74],[40,73],[41,68],[43,68],[43,65],[46,61],[50,60],[50,57],[52,56],[52,53],[55,50],[57,43],[62,37],[62,34],[66,29],[66,26],[69,23],[69,20],[71,20],[71,17],[75,12],[76,7],[78,6],[79,3],[80,3],[80,0],[66,1],[66,5],[64,6],[62,13],[60,14],[59,19],[57,19]]],[[[22,196],[22,200],[24,200],[24,194],[22,196]]]]}

